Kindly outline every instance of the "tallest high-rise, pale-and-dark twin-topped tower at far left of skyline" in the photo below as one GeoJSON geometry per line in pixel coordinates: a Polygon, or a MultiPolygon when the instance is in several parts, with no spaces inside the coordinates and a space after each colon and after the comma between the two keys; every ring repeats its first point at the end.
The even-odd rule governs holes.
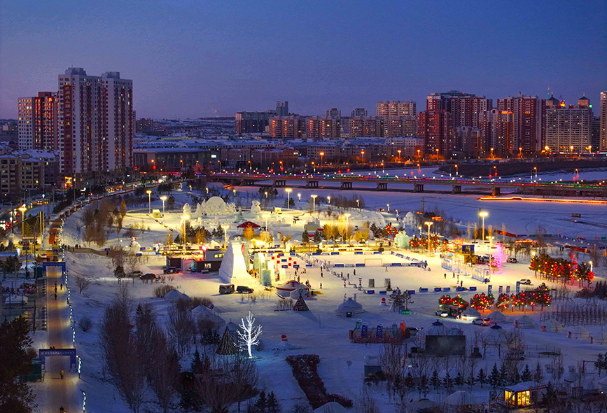
{"type": "Polygon", "coordinates": [[[61,167],[66,174],[132,167],[133,82],[82,68],[59,75],[61,167]]]}

